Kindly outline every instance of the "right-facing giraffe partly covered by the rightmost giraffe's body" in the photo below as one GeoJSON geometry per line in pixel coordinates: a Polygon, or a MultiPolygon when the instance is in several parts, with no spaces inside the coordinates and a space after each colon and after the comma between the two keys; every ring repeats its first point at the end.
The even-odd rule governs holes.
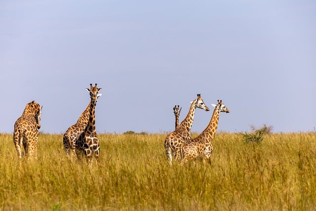
{"type": "Polygon", "coordinates": [[[169,133],[164,140],[164,148],[169,163],[172,165],[172,157],[175,159],[180,154],[181,145],[188,139],[191,139],[190,130],[193,124],[194,113],[196,108],[209,111],[209,108],[204,104],[200,94],[197,94],[197,99],[191,102],[189,113],[181,122],[180,126],[173,132],[169,133]]]}

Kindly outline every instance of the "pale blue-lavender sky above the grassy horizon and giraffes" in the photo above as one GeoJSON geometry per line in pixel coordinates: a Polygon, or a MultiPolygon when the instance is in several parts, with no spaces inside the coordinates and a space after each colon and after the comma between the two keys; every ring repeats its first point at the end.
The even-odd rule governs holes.
{"type": "Polygon", "coordinates": [[[316,127],[315,0],[2,0],[0,28],[0,132],[35,100],[40,131],[64,133],[91,83],[99,133],[172,131],[197,93],[230,109],[221,131],[316,127]]]}

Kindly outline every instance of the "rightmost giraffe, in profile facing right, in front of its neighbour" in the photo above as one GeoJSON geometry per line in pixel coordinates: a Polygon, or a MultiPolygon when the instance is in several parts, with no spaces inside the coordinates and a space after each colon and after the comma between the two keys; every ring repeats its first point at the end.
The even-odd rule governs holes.
{"type": "Polygon", "coordinates": [[[211,142],[216,133],[219,115],[221,112],[229,113],[229,109],[224,105],[222,100],[217,100],[217,105],[212,104],[212,106],[215,107],[215,109],[207,127],[196,138],[188,140],[182,145],[182,160],[180,164],[186,163],[199,156],[205,156],[206,159],[210,158],[213,152],[211,142]]]}

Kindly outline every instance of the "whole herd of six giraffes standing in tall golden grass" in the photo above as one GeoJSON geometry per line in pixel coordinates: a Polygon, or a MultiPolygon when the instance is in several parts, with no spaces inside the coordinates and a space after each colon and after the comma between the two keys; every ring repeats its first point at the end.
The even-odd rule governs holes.
{"type": "MultiPolygon", "coordinates": [[[[90,84],[90,88],[86,88],[90,94],[90,102],[76,124],[69,127],[64,133],[63,145],[68,157],[78,158],[78,160],[84,157],[89,163],[93,158],[98,159],[99,157],[100,143],[95,128],[95,106],[102,95],[98,93],[101,89],[97,87],[97,84],[95,86],[90,84]]],[[[218,100],[217,105],[212,104],[212,106],[215,109],[209,124],[195,138],[191,137],[190,130],[196,108],[204,111],[210,109],[205,105],[200,94],[197,94],[197,98],[191,102],[187,116],[179,125],[182,108],[179,105],[174,106],[175,130],[170,132],[164,140],[165,154],[170,165],[172,165],[173,159],[179,160],[182,165],[197,157],[210,158],[213,151],[211,142],[217,130],[219,115],[221,112],[230,112],[222,100],[218,100]]],[[[41,110],[42,106],[40,107],[40,104],[35,101],[27,103],[22,116],[14,124],[13,142],[20,159],[24,155],[37,158],[41,110]]]]}

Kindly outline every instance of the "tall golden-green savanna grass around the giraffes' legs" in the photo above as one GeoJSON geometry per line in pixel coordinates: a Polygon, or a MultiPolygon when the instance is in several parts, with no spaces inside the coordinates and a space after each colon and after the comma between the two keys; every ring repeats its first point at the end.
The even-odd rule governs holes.
{"type": "Polygon", "coordinates": [[[184,166],[167,163],[165,136],[99,134],[89,166],[66,157],[62,134],[40,134],[38,160],[0,134],[0,210],[316,210],[315,132],[220,132],[209,161],[184,166]]]}

